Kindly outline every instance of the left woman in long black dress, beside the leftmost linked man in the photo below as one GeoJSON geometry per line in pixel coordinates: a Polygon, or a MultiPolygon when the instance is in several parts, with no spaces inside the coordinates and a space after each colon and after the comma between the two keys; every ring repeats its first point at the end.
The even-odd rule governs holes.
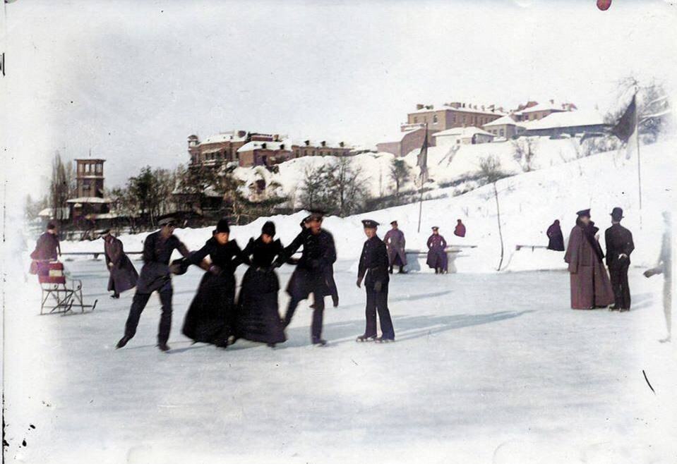
{"type": "Polygon", "coordinates": [[[186,258],[191,264],[207,269],[198,293],[186,312],[183,333],[194,341],[213,343],[225,348],[235,331],[235,269],[245,261],[235,240],[229,240],[226,219],[217,224],[212,238],[203,248],[186,258]],[[203,260],[209,255],[211,263],[203,260]]]}

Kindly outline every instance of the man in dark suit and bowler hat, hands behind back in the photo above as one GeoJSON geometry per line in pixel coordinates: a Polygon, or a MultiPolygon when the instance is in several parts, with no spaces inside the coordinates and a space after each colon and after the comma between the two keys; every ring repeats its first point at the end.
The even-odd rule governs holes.
{"type": "Polygon", "coordinates": [[[630,310],[630,287],[628,286],[628,267],[630,253],[635,250],[633,234],[621,226],[623,209],[616,207],[611,211],[611,227],[604,232],[606,241],[606,266],[609,267],[611,288],[615,303],[609,309],[630,310]]]}

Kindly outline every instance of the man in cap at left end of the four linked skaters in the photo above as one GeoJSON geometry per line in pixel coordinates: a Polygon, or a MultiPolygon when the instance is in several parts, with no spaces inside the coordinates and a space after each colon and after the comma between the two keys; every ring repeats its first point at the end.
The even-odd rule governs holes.
{"type": "Polygon", "coordinates": [[[188,257],[188,248],[174,235],[176,221],[168,217],[158,221],[160,230],[151,233],[143,243],[143,267],[136,284],[136,293],[132,300],[129,316],[125,324],[124,336],[120,338],[116,348],[122,348],[136,334],[138,320],[143,308],[148,304],[150,294],[154,291],[160,294],[162,315],[157,333],[157,348],[169,350],[167,340],[172,329],[172,277],[169,271],[169,260],[174,250],[188,257]]]}

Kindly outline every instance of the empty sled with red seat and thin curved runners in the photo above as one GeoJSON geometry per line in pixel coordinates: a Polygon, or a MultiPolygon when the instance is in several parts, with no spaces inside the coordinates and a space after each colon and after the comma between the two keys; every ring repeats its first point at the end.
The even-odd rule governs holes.
{"type": "Polygon", "coordinates": [[[85,312],[85,308],[92,308],[97,305],[98,300],[94,300],[93,305],[86,305],[83,300],[83,283],[78,279],[68,279],[64,274],[64,264],[59,261],[36,260],[37,280],[42,289],[42,298],[40,300],[40,314],[59,314],[73,311],[79,307],[80,312],[85,312]]]}

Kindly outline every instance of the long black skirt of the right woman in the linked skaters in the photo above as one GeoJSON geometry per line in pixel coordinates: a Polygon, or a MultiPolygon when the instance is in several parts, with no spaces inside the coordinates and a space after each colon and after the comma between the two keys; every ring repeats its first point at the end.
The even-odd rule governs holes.
{"type": "Polygon", "coordinates": [[[280,282],[275,272],[253,267],[247,269],[237,303],[238,338],[262,343],[282,343],[287,340],[280,322],[278,290],[280,282]]]}

